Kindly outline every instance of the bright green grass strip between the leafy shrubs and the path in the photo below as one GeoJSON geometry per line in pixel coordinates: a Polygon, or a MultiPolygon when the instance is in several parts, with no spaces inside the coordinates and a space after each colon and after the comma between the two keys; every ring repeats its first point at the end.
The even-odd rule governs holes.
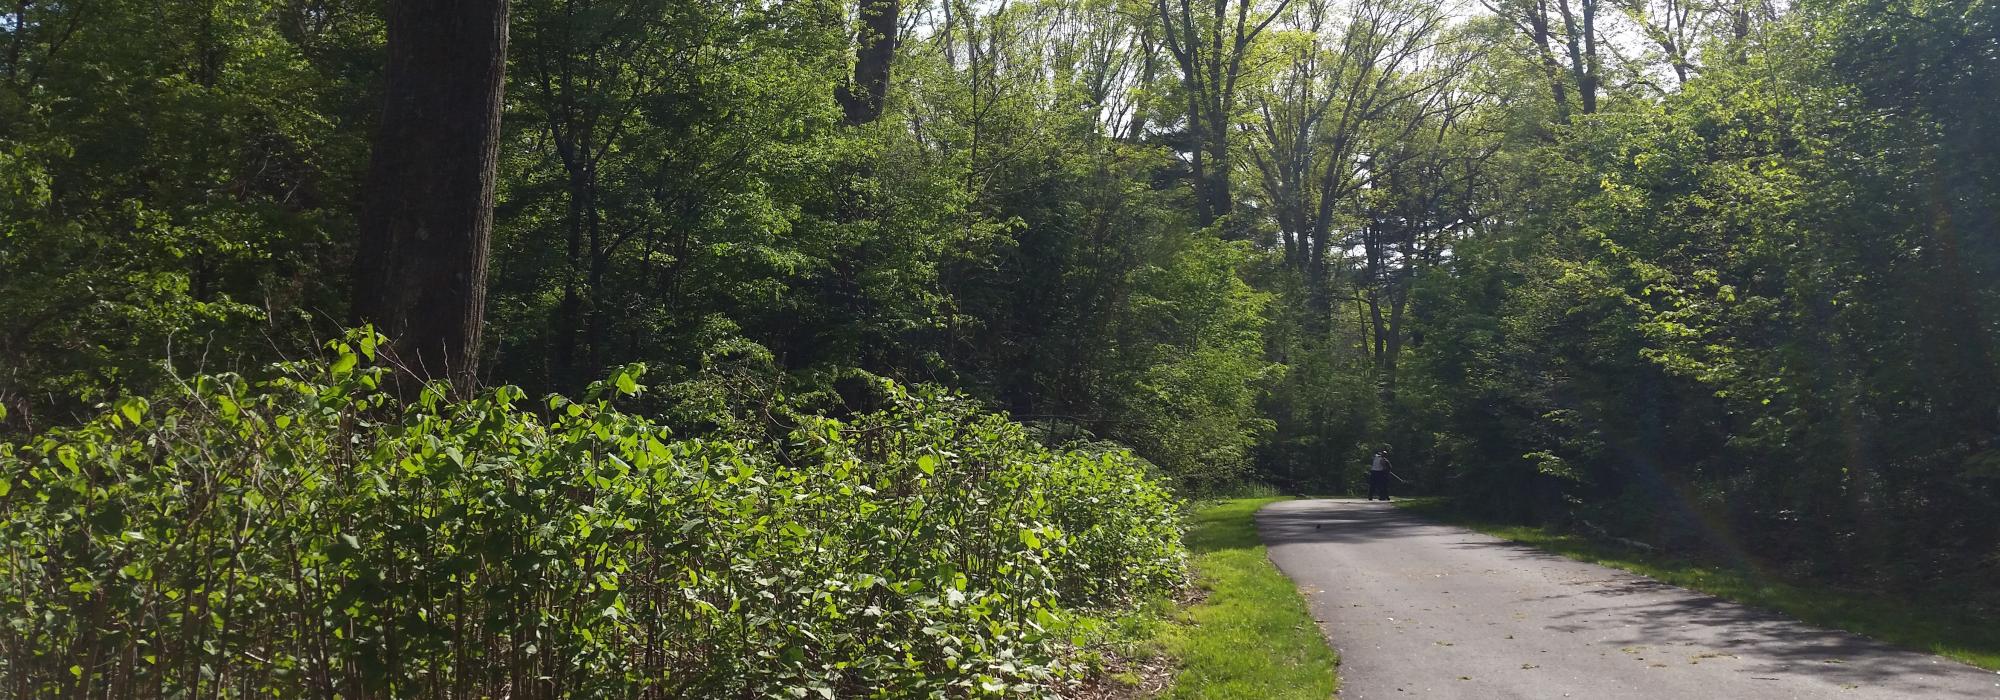
{"type": "Polygon", "coordinates": [[[1282,498],[1236,498],[1194,514],[1188,548],[1206,598],[1150,630],[1178,674],[1166,698],[1310,698],[1334,694],[1334,652],[1256,536],[1252,514],[1282,498]]]}

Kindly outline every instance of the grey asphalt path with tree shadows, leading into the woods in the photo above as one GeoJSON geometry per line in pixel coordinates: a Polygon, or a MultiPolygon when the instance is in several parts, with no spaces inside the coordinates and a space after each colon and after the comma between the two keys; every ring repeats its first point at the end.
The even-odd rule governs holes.
{"type": "Polygon", "coordinates": [[[1340,650],[1340,698],[2000,698],[2000,674],[1434,524],[1258,512],[1340,650]]]}

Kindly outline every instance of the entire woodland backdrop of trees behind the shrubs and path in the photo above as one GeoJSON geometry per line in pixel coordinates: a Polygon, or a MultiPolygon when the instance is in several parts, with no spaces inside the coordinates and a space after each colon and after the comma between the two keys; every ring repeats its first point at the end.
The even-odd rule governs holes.
{"type": "Polygon", "coordinates": [[[688,432],[890,376],[1188,490],[1392,446],[1806,574],[2000,552],[1984,2],[4,16],[6,430],[374,322],[462,386],[648,362],[688,432]]]}

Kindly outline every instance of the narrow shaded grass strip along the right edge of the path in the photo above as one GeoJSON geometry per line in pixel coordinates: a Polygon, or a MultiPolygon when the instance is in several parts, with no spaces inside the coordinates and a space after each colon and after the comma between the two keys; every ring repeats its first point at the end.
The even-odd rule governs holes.
{"type": "MultiPolygon", "coordinates": [[[[1742,568],[1642,552],[1596,538],[1468,518],[1436,498],[1398,500],[1402,508],[1466,526],[1502,540],[1532,544],[1574,560],[1622,568],[1758,608],[1778,610],[1808,624],[1840,628],[1882,642],[1930,650],[1972,666],[2000,670],[2000,624],[1968,616],[1950,596],[1894,596],[1782,582],[1742,568]]],[[[1962,598],[1960,598],[1962,600],[1962,598]]]]}

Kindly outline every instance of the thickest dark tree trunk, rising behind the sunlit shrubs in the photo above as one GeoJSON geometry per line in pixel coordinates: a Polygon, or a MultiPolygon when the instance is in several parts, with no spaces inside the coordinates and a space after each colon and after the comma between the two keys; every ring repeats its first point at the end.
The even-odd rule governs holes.
{"type": "Polygon", "coordinates": [[[354,320],[412,376],[470,388],[492,238],[506,0],[388,2],[382,126],[368,164],[354,320]]]}

